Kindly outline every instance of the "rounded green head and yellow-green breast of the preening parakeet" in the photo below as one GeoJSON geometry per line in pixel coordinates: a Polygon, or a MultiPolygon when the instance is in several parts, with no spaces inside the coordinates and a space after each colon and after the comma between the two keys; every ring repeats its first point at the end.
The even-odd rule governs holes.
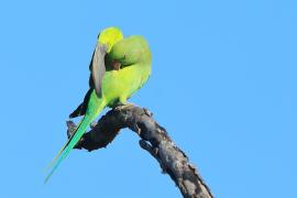
{"type": "Polygon", "coordinates": [[[151,74],[152,55],[142,36],[130,36],[117,43],[107,56],[107,73],[102,84],[102,97],[108,106],[119,100],[125,103],[151,74]],[[119,70],[111,69],[111,64],[119,62],[119,70]]]}

